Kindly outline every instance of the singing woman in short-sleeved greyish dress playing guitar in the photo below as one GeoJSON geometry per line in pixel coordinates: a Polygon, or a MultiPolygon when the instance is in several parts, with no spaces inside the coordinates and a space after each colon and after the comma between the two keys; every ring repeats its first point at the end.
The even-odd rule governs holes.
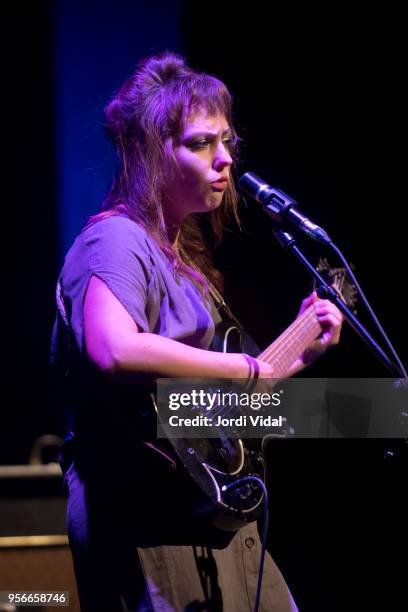
{"type": "MultiPolygon", "coordinates": [[[[256,527],[203,522],[182,471],[143,443],[155,436],[142,399],[155,378],[273,376],[262,361],[208,351],[220,282],[203,231],[219,239],[236,218],[230,94],[166,53],[139,64],[106,121],[120,167],[66,257],[53,337],[68,374],[62,465],[82,610],[250,610],[256,527]]],[[[323,332],[288,376],[339,340],[338,310],[313,294],[301,312],[311,303],[323,332]]],[[[269,555],[261,609],[296,609],[269,555]]]]}

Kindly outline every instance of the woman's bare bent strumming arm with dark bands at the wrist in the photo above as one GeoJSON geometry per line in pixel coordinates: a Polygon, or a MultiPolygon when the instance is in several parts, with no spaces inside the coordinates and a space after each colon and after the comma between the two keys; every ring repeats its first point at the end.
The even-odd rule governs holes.
{"type": "MultiPolygon", "coordinates": [[[[83,316],[88,357],[113,377],[132,373],[152,377],[248,377],[248,363],[239,353],[206,351],[158,334],[139,333],[127,310],[97,276],[89,282],[83,316]]],[[[272,378],[272,367],[258,363],[260,377],[272,378]]]]}

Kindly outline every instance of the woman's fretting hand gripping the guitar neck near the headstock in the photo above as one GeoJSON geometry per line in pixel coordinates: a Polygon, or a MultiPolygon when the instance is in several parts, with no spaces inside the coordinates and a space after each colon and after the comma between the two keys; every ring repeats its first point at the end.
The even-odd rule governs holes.
{"type": "Polygon", "coordinates": [[[340,310],[329,300],[321,300],[316,291],[305,298],[300,307],[298,317],[313,304],[316,316],[322,327],[322,333],[314,340],[301,356],[303,364],[309,365],[318,357],[323,355],[330,346],[335,346],[340,341],[341,327],[344,317],[340,310]]]}

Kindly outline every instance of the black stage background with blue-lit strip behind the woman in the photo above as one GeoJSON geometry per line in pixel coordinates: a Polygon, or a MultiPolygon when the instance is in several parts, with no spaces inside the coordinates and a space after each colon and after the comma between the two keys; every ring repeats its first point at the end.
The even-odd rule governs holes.
{"type": "MultiPolygon", "coordinates": [[[[401,15],[344,5],[197,12],[190,2],[60,1],[11,9],[4,27],[12,36],[3,75],[0,463],[25,463],[38,436],[63,435],[48,365],[58,271],[111,180],[103,105],[141,57],[166,48],[227,83],[244,140],[238,170],[288,192],[328,231],[407,363],[401,15]]],[[[242,203],[241,212],[243,232],[227,236],[217,261],[233,310],[265,346],[310,282],[257,205],[242,203]]],[[[308,375],[387,373],[346,327],[308,375]]],[[[406,599],[406,562],[397,562],[406,551],[404,441],[291,445],[270,450],[271,543],[300,609],[369,609],[381,597],[396,609],[406,599]]]]}

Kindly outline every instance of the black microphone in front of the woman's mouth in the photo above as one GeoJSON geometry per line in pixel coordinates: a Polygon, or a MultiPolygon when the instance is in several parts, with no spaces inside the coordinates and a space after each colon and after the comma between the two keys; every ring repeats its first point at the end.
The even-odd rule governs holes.
{"type": "Polygon", "coordinates": [[[278,223],[287,222],[317,242],[330,244],[327,233],[297,210],[297,202],[286,193],[265,183],[253,172],[247,172],[238,181],[240,188],[259,202],[264,211],[278,223]]]}

